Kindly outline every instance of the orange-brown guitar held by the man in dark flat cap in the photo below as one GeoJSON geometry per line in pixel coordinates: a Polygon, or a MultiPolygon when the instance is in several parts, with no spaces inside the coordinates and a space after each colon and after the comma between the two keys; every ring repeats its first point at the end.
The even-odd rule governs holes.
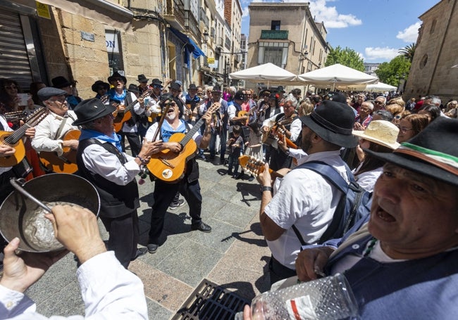
{"type": "MultiPolygon", "coordinates": [[[[78,140],[80,135],[80,130],[68,130],[62,140],[78,140]]],[[[42,165],[48,171],[56,173],[75,173],[78,170],[78,165],[76,165],[76,150],[70,147],[63,147],[62,150],[62,155],[58,155],[54,151],[40,151],[38,156],[42,165]]]]}

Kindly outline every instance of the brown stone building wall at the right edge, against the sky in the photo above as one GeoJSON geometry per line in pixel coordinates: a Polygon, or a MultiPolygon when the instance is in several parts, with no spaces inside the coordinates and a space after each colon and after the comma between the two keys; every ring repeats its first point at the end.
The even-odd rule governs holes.
{"type": "Polygon", "coordinates": [[[434,94],[447,102],[458,98],[458,0],[442,0],[421,15],[404,99],[434,94]]]}

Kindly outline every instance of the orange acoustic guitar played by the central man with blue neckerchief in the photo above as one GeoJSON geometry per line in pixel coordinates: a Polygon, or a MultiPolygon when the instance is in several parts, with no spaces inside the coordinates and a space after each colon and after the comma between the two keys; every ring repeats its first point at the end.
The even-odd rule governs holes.
{"type": "MultiPolygon", "coordinates": [[[[206,112],[214,113],[218,108],[221,108],[221,105],[213,103],[206,112]]],[[[187,134],[176,133],[168,139],[168,142],[180,143],[182,146],[180,153],[165,149],[151,155],[151,160],[149,160],[147,167],[154,177],[169,183],[178,182],[185,177],[186,163],[195,157],[197,150],[197,144],[192,139],[192,136],[200,129],[204,121],[202,117],[187,134]]]]}

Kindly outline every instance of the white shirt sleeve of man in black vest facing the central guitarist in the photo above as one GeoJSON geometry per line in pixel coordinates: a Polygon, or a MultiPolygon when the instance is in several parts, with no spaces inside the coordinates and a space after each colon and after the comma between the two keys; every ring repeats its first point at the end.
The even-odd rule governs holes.
{"type": "MultiPolygon", "coordinates": [[[[101,143],[106,142],[99,141],[101,143]]],[[[135,162],[135,158],[127,153],[124,153],[124,155],[128,162],[121,165],[116,155],[107,151],[103,146],[94,143],[85,148],[82,153],[82,160],[90,172],[100,174],[101,177],[119,186],[125,186],[140,173],[140,167],[135,162]]]]}

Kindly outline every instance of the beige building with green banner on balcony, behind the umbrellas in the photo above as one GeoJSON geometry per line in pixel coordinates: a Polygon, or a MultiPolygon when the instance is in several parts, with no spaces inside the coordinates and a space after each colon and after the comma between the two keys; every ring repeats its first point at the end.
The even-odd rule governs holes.
{"type": "Polygon", "coordinates": [[[314,21],[308,3],[252,3],[248,8],[247,68],[270,62],[298,75],[324,67],[327,31],[314,21]]]}

